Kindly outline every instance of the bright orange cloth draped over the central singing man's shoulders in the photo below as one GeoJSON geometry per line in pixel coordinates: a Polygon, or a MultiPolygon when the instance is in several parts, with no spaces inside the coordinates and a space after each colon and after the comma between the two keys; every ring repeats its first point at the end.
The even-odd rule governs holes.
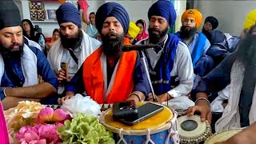
{"type": "MultiPolygon", "coordinates": [[[[126,42],[126,41],[125,41],[126,42]]],[[[129,45],[129,43],[124,43],[129,45]]],[[[104,78],[102,71],[102,47],[95,50],[83,64],[83,81],[86,94],[94,101],[103,103],[104,78]]],[[[122,54],[118,70],[114,78],[114,84],[110,93],[106,95],[106,103],[125,101],[134,89],[134,67],[136,64],[137,52],[130,51],[122,54]]]]}

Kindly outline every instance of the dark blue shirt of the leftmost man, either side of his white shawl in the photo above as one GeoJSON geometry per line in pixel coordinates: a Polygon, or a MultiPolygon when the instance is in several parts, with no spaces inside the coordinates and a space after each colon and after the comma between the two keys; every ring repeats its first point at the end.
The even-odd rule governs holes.
{"type": "MultiPolygon", "coordinates": [[[[58,90],[58,79],[56,78],[54,71],[50,69],[50,64],[47,61],[46,56],[42,51],[38,50],[38,48],[32,46],[29,47],[38,58],[38,75],[42,76],[44,82],[50,83],[56,90],[58,90]]],[[[22,87],[25,78],[22,73],[20,60],[12,58],[9,60],[5,59],[4,62],[5,72],[2,76],[1,87],[22,87]]],[[[1,100],[5,98],[2,88],[0,88],[0,98],[1,100]]]]}

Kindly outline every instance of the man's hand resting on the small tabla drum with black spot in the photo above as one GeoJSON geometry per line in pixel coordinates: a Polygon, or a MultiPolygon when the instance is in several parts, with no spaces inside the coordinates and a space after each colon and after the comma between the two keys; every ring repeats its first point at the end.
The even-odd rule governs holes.
{"type": "Polygon", "coordinates": [[[211,111],[209,103],[205,100],[200,100],[196,103],[195,106],[190,107],[183,114],[188,116],[194,115],[194,112],[199,112],[201,114],[201,120],[211,122],[211,111]]]}

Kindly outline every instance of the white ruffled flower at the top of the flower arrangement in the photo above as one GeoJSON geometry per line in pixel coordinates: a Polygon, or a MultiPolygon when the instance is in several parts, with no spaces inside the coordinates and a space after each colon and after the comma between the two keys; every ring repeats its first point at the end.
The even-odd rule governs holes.
{"type": "Polygon", "coordinates": [[[101,106],[89,96],[83,97],[81,94],[76,94],[63,103],[62,110],[68,112],[72,118],[80,113],[97,117],[101,113],[101,106]]]}

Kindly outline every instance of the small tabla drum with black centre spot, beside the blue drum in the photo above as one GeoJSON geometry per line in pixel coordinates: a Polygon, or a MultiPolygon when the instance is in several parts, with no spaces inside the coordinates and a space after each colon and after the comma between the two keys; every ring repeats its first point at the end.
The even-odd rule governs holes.
{"type": "Polygon", "coordinates": [[[197,115],[179,117],[178,135],[181,143],[203,142],[212,135],[210,123],[202,122],[197,115]]]}

